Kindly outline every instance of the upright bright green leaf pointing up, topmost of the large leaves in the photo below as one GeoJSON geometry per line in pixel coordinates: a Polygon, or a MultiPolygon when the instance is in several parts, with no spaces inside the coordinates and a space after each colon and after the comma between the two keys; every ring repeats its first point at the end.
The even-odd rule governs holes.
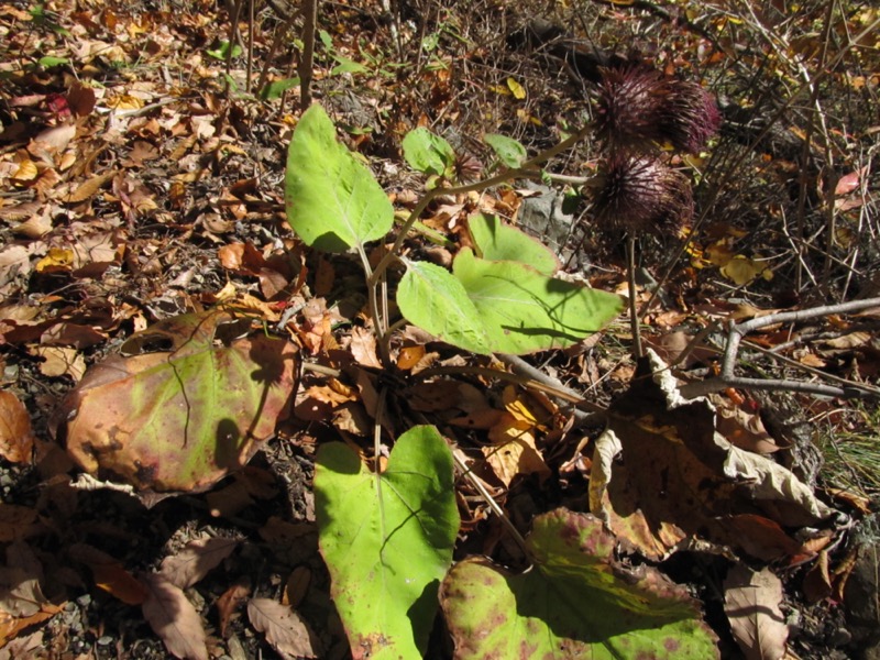
{"type": "Polygon", "coordinates": [[[337,141],[320,106],[299,119],[287,151],[287,220],[314,248],[344,252],[384,237],[394,208],[370,170],[337,141]]]}

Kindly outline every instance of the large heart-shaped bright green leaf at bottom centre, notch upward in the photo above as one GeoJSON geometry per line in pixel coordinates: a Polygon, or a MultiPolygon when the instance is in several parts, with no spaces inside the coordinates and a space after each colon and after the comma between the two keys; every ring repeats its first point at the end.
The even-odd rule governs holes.
{"type": "Polygon", "coordinates": [[[452,453],[404,433],[381,475],[340,442],[318,451],[315,503],[331,593],[358,658],[420,658],[459,531],[452,453]]]}

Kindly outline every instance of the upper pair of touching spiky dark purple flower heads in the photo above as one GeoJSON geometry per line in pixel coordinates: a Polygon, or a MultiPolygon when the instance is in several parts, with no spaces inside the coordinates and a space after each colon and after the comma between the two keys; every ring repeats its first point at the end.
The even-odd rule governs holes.
{"type": "Polygon", "coordinates": [[[718,130],[721,114],[700,85],[637,64],[603,69],[596,124],[613,151],[648,151],[670,142],[694,153],[718,130]]]}

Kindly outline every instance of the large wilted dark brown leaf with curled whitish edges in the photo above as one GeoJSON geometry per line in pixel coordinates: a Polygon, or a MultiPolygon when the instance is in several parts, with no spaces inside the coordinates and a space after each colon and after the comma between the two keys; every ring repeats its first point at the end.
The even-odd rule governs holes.
{"type": "MultiPolygon", "coordinates": [[[[756,508],[777,527],[815,525],[835,513],[792,472],[718,433],[712,406],[684,399],[651,351],[610,414],[623,461],[610,464],[610,474],[597,472],[595,487],[591,476],[591,509],[647,557],[666,557],[698,531],[748,551],[741,536],[725,532],[724,520],[756,508]]],[[[607,463],[594,457],[594,466],[607,463]]],[[[789,549],[795,547],[791,540],[789,549]]]]}

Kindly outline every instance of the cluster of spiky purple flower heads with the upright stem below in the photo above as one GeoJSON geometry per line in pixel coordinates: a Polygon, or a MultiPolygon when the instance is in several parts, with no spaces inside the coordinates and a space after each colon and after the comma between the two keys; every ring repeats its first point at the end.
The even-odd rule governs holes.
{"type": "Polygon", "coordinates": [[[602,72],[596,135],[605,148],[591,184],[595,219],[606,233],[627,235],[629,318],[634,353],[642,354],[636,305],[636,238],[678,233],[693,216],[690,180],[670,168],[659,150],[698,153],[718,130],[721,113],[700,85],[645,64],[602,72]]]}

